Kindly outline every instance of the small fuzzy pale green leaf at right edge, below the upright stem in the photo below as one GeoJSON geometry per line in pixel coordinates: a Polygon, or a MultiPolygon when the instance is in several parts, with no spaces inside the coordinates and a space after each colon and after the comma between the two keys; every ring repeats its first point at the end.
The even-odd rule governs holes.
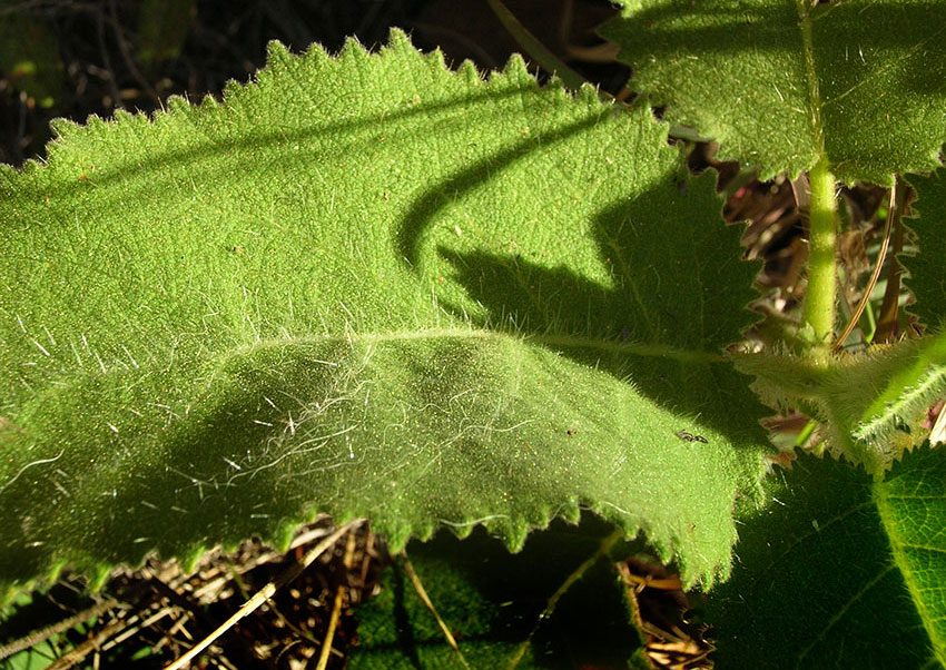
{"type": "Polygon", "coordinates": [[[836,456],[879,474],[923,442],[927,410],[946,395],[946,332],[827,363],[751,354],[736,364],[756,375],[752,386],[767,403],[820,421],[836,456]]]}

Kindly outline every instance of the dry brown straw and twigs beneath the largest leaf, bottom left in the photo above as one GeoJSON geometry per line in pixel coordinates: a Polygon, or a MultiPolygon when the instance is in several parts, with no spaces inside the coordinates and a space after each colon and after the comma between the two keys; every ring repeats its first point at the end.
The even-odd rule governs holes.
{"type": "MultiPolygon", "coordinates": [[[[280,553],[258,540],[234,552],[215,550],[185,573],[176,561],[148,560],[117,570],[101,592],[65,577],[29,604],[3,613],[0,661],[31,657],[38,667],[125,668],[130,660],[164,668],[233,615],[332,533],[321,519],[296,533],[280,553]],[[47,663],[52,663],[47,666],[47,663]]],[[[200,659],[204,668],[315,667],[333,612],[338,619],[327,668],[342,668],[355,637],[352,608],[375,589],[386,551],[367,526],[341,538],[298,579],[218,639],[200,659]],[[338,604],[336,604],[338,603],[338,604]]]]}

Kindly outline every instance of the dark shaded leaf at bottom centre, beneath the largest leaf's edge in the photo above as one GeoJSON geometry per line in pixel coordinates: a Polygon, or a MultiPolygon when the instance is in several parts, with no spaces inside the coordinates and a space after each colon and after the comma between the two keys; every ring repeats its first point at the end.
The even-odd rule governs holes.
{"type": "MultiPolygon", "coordinates": [[[[530,535],[518,554],[482,529],[463,541],[440,533],[408,544],[407,555],[467,667],[493,670],[518,656],[549,597],[610,531],[595,518],[579,526],[556,522],[530,535]]],[[[400,562],[386,570],[381,594],[361,605],[357,618],[351,670],[464,668],[400,562]]],[[[638,647],[624,591],[611,563],[601,560],[542,621],[516,668],[625,668],[638,647]]]]}

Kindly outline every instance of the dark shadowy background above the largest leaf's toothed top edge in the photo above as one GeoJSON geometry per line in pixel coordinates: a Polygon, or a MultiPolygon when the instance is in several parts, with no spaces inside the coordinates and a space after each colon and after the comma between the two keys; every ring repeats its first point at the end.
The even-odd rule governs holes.
{"type": "MultiPolygon", "coordinates": [[[[542,42],[612,92],[628,69],[594,28],[615,14],[608,0],[506,0],[542,42]],[[589,50],[589,48],[591,48],[589,50]]],[[[49,121],[149,112],[171,95],[199,100],[246,81],[266,43],[337,51],[348,37],[376,47],[392,27],[449,63],[502,68],[516,41],[486,0],[0,0],[0,162],[42,157],[49,121]]]]}

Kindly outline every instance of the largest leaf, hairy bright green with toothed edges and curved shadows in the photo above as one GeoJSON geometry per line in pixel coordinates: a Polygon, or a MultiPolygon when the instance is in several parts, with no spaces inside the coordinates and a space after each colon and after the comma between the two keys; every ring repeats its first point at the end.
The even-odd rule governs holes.
{"type": "Polygon", "coordinates": [[[58,131],[0,173],[0,581],[317,511],[515,546],[581,506],[728,571],[753,267],[648,110],[395,33],[58,131]]]}

